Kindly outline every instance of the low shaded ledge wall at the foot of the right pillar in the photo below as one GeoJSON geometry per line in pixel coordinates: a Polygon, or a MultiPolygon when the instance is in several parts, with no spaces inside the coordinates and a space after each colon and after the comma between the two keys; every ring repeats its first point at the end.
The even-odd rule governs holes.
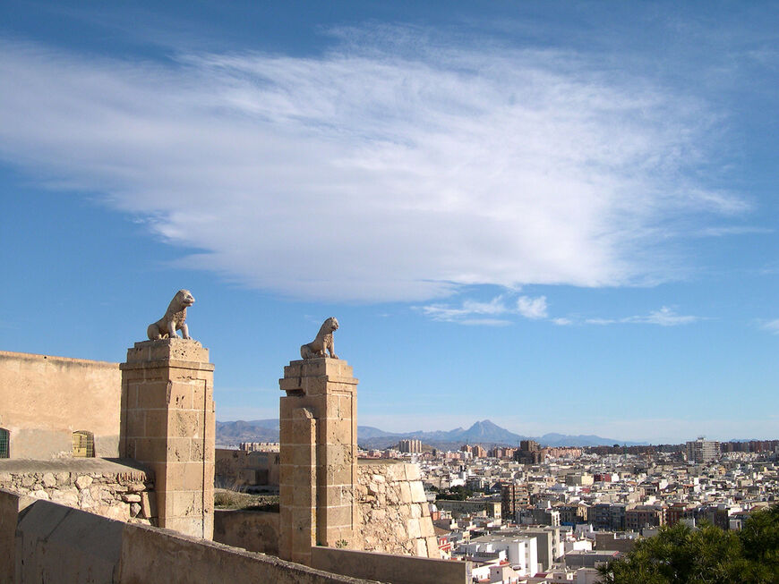
{"type": "Polygon", "coordinates": [[[311,562],[318,570],[391,584],[467,584],[467,563],[453,560],[316,546],[311,548],[311,562]]]}

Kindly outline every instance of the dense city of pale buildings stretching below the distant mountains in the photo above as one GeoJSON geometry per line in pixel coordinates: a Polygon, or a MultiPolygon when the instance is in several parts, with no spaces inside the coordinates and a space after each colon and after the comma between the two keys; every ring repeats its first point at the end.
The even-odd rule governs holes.
{"type": "Polygon", "coordinates": [[[441,452],[409,439],[363,454],[419,463],[441,550],[483,582],[595,582],[662,526],[738,530],[779,500],[779,440],[441,452]]]}

